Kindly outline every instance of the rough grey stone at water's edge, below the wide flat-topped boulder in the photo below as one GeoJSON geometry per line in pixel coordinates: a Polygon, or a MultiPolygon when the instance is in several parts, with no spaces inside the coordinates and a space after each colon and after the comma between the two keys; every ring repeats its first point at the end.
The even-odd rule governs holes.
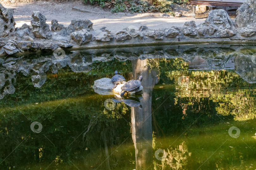
{"type": "Polygon", "coordinates": [[[84,45],[84,44],[90,42],[93,38],[92,34],[90,32],[88,32],[86,29],[72,32],[70,34],[70,36],[79,45],[84,45]]]}

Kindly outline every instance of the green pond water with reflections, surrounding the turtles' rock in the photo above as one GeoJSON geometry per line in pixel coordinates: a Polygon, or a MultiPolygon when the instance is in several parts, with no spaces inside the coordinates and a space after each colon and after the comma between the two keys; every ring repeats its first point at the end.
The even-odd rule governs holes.
{"type": "Polygon", "coordinates": [[[2,58],[0,169],[256,169],[255,53],[198,44],[2,58]],[[143,94],[95,93],[115,70],[142,75],[143,94]]]}

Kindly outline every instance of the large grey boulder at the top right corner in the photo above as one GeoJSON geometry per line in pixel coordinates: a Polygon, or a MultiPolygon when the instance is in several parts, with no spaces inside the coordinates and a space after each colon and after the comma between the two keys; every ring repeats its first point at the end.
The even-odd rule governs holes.
{"type": "Polygon", "coordinates": [[[239,28],[248,27],[255,29],[256,27],[256,1],[247,0],[237,9],[236,24],[239,28]]]}

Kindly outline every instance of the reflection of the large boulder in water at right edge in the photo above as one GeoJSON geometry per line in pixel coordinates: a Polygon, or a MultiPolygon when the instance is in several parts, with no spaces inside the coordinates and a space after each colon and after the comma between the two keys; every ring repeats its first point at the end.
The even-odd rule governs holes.
{"type": "Polygon", "coordinates": [[[248,83],[256,83],[256,64],[252,55],[239,54],[235,57],[235,72],[248,83]]]}

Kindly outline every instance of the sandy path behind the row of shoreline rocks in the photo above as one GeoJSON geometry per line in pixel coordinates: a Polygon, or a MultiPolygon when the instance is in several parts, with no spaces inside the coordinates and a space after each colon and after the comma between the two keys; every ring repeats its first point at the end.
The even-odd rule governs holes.
{"type": "Polygon", "coordinates": [[[130,25],[140,27],[146,25],[151,29],[159,29],[162,27],[183,26],[186,21],[194,20],[196,24],[204,22],[207,17],[205,15],[197,15],[196,19],[191,18],[190,12],[183,12],[180,18],[161,18],[143,16],[143,14],[130,14],[130,13],[114,13],[112,14],[109,9],[102,9],[97,5],[84,5],[80,0],[72,2],[46,2],[39,1],[36,3],[16,3],[16,4],[2,4],[6,8],[15,9],[14,18],[16,27],[21,27],[22,24],[30,24],[31,15],[33,11],[40,11],[47,18],[46,23],[51,26],[51,20],[56,19],[68,26],[73,19],[88,19],[93,22],[93,28],[100,29],[106,26],[111,31],[118,31],[130,25]],[[72,7],[82,6],[88,11],[94,13],[84,13],[73,11],[72,7]],[[186,15],[186,16],[185,16],[186,15]]]}

